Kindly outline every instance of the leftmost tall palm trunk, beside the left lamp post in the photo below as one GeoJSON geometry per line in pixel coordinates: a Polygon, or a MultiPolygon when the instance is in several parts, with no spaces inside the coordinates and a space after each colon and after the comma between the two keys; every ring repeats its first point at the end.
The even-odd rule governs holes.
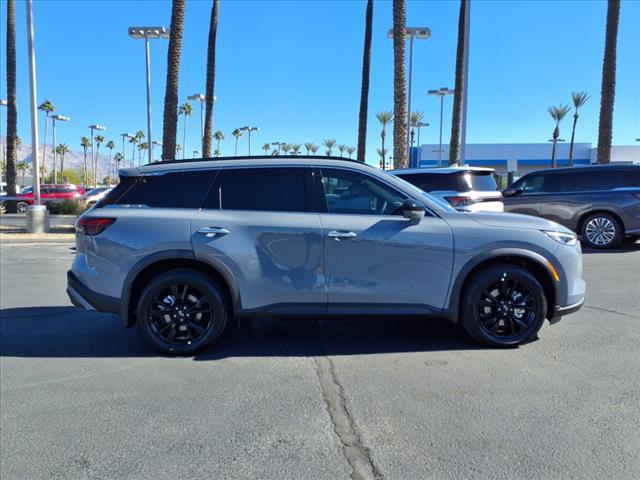
{"type": "MultiPolygon", "coordinates": [[[[7,0],[7,195],[16,195],[18,157],[18,103],[16,100],[16,2],[7,0]]],[[[15,212],[15,202],[7,204],[15,212]]]]}

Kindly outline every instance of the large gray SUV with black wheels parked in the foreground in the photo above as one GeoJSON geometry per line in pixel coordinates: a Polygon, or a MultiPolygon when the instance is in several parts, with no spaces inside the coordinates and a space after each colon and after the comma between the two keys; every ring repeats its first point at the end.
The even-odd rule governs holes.
{"type": "Polygon", "coordinates": [[[161,352],[195,352],[232,316],[439,316],[515,346],[584,300],[565,227],[460,212],[355,161],[161,162],[120,179],[76,223],[67,292],[161,352]]]}

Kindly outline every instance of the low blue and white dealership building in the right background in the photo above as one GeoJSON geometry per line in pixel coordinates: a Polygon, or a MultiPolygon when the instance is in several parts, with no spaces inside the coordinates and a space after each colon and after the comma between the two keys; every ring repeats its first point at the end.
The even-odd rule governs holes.
{"type": "MultiPolygon", "coordinates": [[[[411,168],[447,166],[449,145],[421,145],[412,149],[411,168]],[[439,155],[440,154],[440,155],[439,155]]],[[[506,176],[513,172],[517,178],[532,170],[551,167],[552,143],[471,143],[465,149],[465,165],[491,167],[496,174],[506,176]]],[[[597,148],[591,143],[573,145],[573,165],[583,166],[596,162],[597,148]]],[[[556,160],[559,167],[569,166],[569,144],[558,143],[556,160]]],[[[640,145],[611,147],[612,163],[640,164],[640,145]]]]}

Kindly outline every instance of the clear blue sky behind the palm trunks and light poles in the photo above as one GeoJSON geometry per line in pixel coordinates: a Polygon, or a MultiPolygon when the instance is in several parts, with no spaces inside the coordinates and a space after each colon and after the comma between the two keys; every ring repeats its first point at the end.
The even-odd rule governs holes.
{"type": "MultiPolygon", "coordinates": [[[[0,96],[6,98],[6,2],[0,15],[0,96]]],[[[17,2],[19,136],[30,142],[24,2],[17,2]]],[[[253,150],[265,142],[316,144],[325,138],[356,145],[364,36],[364,1],[222,0],[217,40],[214,128],[233,154],[231,130],[256,125],[253,150]]],[[[431,127],[421,143],[436,143],[439,102],[428,89],[453,87],[457,1],[408,1],[407,24],[427,26],[429,40],[414,51],[413,109],[431,127]]],[[[188,0],[180,101],[204,90],[211,2],[188,0]]],[[[169,26],[169,1],[56,1],[34,3],[38,100],[50,99],[72,121],[58,141],[79,150],[87,125],[107,127],[117,140],[125,131],[146,131],[144,43],[127,35],[132,25],[169,26]]],[[[549,105],[570,103],[570,93],[592,98],[584,107],[576,141],[597,141],[606,2],[480,1],[472,6],[469,142],[539,142],[550,138],[549,105]]],[[[393,105],[393,52],[386,32],[390,1],[374,3],[368,161],[377,161],[380,128],[375,112],[393,105]]],[[[640,137],[640,2],[622,2],[614,144],[640,137]]],[[[152,42],[154,137],[160,140],[166,40],[152,42]]],[[[3,122],[6,116],[3,112],[3,122]]],[[[199,109],[189,119],[187,148],[199,150],[199,109]]],[[[449,138],[451,97],[445,104],[449,138]]],[[[570,119],[561,136],[570,136],[570,119]]],[[[42,127],[42,117],[40,126],[42,127]]],[[[5,125],[2,132],[4,134],[5,125]]],[[[178,125],[182,143],[182,121],[178,125]]],[[[50,134],[49,134],[50,135],[50,134]]],[[[49,136],[50,139],[50,136],[49,136]]],[[[42,128],[40,134],[42,140],[42,128]]],[[[246,153],[246,136],[240,152],[246,153]]]]}

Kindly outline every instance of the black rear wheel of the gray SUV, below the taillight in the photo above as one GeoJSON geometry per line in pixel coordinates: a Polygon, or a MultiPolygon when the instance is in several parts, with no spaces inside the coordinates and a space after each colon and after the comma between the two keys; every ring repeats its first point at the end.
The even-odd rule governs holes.
{"type": "Polygon", "coordinates": [[[162,353],[191,355],[220,337],[227,311],[224,292],[210,277],[195,270],[169,270],[142,292],[138,329],[162,353]]]}

